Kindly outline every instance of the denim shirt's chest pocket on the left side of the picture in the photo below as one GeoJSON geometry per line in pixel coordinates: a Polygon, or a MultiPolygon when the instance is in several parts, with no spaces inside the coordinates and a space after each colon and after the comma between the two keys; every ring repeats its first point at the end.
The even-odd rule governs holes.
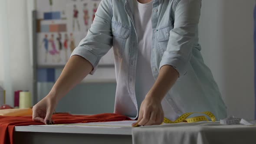
{"type": "Polygon", "coordinates": [[[112,21],[112,34],[113,34],[113,51],[116,56],[122,58],[125,43],[131,32],[131,27],[123,23],[112,21]]]}

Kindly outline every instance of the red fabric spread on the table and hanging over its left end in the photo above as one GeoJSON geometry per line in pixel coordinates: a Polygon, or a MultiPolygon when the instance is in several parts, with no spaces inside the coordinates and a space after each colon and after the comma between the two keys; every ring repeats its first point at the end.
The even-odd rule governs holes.
{"type": "MultiPolygon", "coordinates": [[[[106,122],[106,121],[128,121],[127,116],[118,114],[99,114],[99,115],[53,115],[54,124],[88,123],[88,122],[106,122]]],[[[40,122],[32,121],[31,116],[13,117],[0,116],[0,144],[14,144],[13,134],[15,126],[25,125],[43,125],[40,122]]]]}

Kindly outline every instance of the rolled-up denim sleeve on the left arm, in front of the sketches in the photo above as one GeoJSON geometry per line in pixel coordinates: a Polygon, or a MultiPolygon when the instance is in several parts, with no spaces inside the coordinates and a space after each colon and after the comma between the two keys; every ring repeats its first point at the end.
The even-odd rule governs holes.
{"type": "Polygon", "coordinates": [[[102,0],[87,36],[82,39],[79,46],[71,54],[71,56],[82,56],[92,64],[91,75],[96,71],[102,56],[112,48],[111,21],[112,14],[109,9],[109,0],[102,0]]]}

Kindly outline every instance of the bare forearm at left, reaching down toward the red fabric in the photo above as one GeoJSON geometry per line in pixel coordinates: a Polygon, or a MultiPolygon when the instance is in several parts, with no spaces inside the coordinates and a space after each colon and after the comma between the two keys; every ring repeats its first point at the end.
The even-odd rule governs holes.
{"type": "Polygon", "coordinates": [[[75,85],[82,81],[92,71],[92,64],[81,56],[72,56],[63,69],[59,79],[53,85],[49,96],[59,101],[75,85]]]}

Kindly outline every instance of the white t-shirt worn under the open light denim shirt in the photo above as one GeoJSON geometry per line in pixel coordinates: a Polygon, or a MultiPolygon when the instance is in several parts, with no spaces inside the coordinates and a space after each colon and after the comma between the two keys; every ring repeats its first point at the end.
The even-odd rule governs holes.
{"type": "MultiPolygon", "coordinates": [[[[150,3],[139,3],[134,0],[134,22],[138,35],[138,61],[136,67],[135,94],[138,108],[141,102],[154,85],[154,77],[151,70],[151,43],[152,43],[152,0],[150,3]]],[[[164,98],[162,101],[164,116],[171,120],[178,116],[164,98]]]]}

